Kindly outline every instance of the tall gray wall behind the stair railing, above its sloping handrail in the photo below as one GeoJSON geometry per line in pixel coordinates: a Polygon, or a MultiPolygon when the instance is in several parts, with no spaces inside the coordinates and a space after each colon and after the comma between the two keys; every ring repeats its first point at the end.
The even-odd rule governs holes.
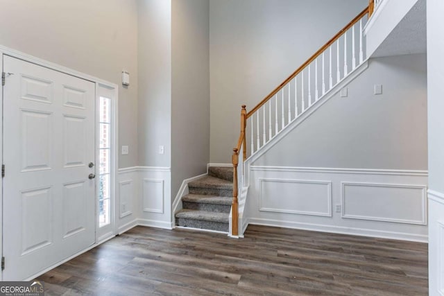
{"type": "Polygon", "coordinates": [[[210,0],[210,161],[229,163],[253,108],[367,0],[210,0]]]}

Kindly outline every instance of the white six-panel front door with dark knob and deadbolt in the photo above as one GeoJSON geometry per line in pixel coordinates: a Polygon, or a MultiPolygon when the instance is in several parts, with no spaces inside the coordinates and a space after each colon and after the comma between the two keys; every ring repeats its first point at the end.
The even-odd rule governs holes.
{"type": "Polygon", "coordinates": [[[23,280],[95,242],[95,84],[6,55],[3,71],[3,280],[23,280]]]}

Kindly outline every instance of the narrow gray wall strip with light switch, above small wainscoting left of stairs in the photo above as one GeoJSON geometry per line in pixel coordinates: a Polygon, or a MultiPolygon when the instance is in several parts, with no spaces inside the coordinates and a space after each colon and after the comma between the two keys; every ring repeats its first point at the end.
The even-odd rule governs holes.
{"type": "Polygon", "coordinates": [[[171,1],[139,0],[139,166],[171,166],[171,1]],[[164,154],[158,153],[164,146],[164,154]]]}

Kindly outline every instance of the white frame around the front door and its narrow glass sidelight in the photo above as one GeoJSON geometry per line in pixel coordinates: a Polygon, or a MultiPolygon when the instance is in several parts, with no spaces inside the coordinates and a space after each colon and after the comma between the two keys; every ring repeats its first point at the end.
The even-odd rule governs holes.
{"type": "MultiPolygon", "coordinates": [[[[97,245],[99,245],[100,243],[103,243],[103,241],[108,240],[109,238],[112,238],[114,235],[117,234],[117,227],[116,227],[116,207],[115,207],[115,203],[117,200],[117,194],[115,191],[115,184],[116,184],[116,176],[117,176],[117,167],[119,164],[119,147],[118,147],[118,143],[119,143],[119,139],[118,139],[118,130],[117,127],[119,126],[119,122],[118,122],[118,97],[119,97],[119,86],[112,83],[112,82],[108,82],[105,80],[102,80],[100,78],[96,78],[94,76],[90,76],[87,75],[85,73],[81,73],[79,71],[73,70],[73,69],[69,69],[67,67],[63,67],[60,66],[59,64],[55,64],[53,62],[48,62],[46,60],[42,60],[40,58],[36,58],[33,55],[28,55],[26,53],[22,53],[20,51],[16,51],[14,49],[9,49],[6,46],[2,46],[0,45],[0,72],[3,72],[3,55],[9,55],[13,58],[18,58],[20,60],[24,60],[26,62],[31,62],[33,64],[37,64],[40,65],[42,67],[46,67],[49,69],[53,69],[62,73],[66,73],[68,75],[71,76],[76,76],[78,78],[82,78],[84,80],[89,80],[91,82],[94,82],[96,84],[96,102],[97,99],[99,98],[99,89],[100,88],[105,88],[108,90],[111,90],[114,94],[113,98],[112,98],[112,103],[113,103],[113,114],[112,114],[112,124],[113,126],[113,130],[112,130],[112,146],[114,148],[113,153],[112,153],[112,162],[114,162],[113,167],[111,168],[111,178],[112,178],[112,213],[114,214],[114,217],[112,218],[112,232],[110,232],[108,234],[107,237],[102,237],[101,241],[97,240],[96,237],[96,243],[94,243],[94,245],[92,245],[91,247],[87,248],[86,250],[83,250],[81,253],[86,252],[87,250],[92,249],[93,247],[96,247],[97,245]]],[[[1,86],[1,92],[0,92],[0,114],[3,114],[3,86],[1,86]]],[[[98,130],[97,130],[97,116],[94,118],[95,124],[94,126],[96,127],[96,135],[98,134],[98,130]]],[[[97,138],[97,137],[96,137],[97,138]]],[[[97,140],[96,140],[97,141],[97,140]]],[[[0,160],[1,160],[1,164],[3,164],[3,120],[0,120],[0,160]]],[[[96,173],[98,173],[98,168],[96,167],[96,173]]],[[[6,173],[7,169],[6,169],[6,173]]],[[[97,190],[96,190],[96,207],[97,207],[97,190]]],[[[99,219],[98,217],[96,217],[96,234],[98,232],[99,229],[99,219]]],[[[80,253],[80,254],[81,254],[80,253]]],[[[0,182],[0,255],[3,255],[3,178],[0,182]]],[[[78,256],[78,254],[74,254],[74,256],[78,256]]],[[[74,256],[71,256],[69,258],[67,258],[66,260],[58,263],[57,265],[64,263],[66,261],[69,261],[70,259],[74,258],[74,256]]],[[[6,262],[6,265],[8,263],[6,262]]],[[[52,268],[54,268],[56,266],[51,266],[50,268],[48,268],[47,270],[50,270],[52,268]]],[[[3,279],[3,271],[0,269],[0,279],[3,279]]]]}

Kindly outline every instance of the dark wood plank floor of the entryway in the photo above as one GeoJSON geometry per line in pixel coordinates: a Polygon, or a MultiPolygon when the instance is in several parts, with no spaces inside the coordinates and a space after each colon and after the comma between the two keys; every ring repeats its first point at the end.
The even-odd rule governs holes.
{"type": "Polygon", "coordinates": [[[46,295],[427,295],[427,244],[250,225],[135,227],[42,275],[46,295]]]}

